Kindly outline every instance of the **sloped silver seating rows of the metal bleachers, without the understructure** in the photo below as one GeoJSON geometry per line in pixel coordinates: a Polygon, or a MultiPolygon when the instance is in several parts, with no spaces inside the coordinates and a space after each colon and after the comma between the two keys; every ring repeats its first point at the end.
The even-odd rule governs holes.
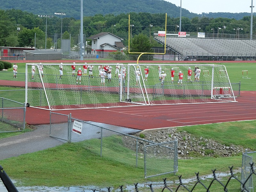
{"type": "MultiPolygon", "coordinates": [[[[164,37],[155,37],[164,44],[164,37]]],[[[166,37],[166,45],[176,54],[198,57],[256,57],[256,40],[166,37]]]]}

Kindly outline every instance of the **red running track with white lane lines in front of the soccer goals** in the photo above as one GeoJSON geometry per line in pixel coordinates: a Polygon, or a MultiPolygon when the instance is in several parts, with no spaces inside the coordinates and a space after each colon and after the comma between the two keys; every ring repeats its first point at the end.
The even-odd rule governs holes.
{"type": "MultiPolygon", "coordinates": [[[[198,124],[256,120],[256,92],[244,91],[233,103],[136,106],[54,111],[84,121],[145,130],[198,124]]],[[[27,108],[28,124],[49,124],[50,111],[27,108]]]]}

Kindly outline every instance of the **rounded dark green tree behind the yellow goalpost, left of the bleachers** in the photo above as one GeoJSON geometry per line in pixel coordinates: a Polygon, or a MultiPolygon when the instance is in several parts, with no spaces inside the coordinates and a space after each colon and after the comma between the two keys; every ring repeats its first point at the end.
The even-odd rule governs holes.
{"type": "MultiPolygon", "coordinates": [[[[139,35],[135,35],[132,38],[132,42],[130,45],[130,52],[153,52],[152,45],[149,42],[148,36],[142,33],[140,33],[139,35]]],[[[134,54],[138,55],[138,53],[134,53],[134,54]]],[[[140,57],[140,60],[153,60],[153,55],[143,54],[140,57]]]]}

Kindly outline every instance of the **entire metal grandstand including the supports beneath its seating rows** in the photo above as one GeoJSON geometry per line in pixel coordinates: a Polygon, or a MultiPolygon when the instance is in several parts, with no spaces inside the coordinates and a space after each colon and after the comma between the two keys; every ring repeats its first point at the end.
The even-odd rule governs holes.
{"type": "MultiPolygon", "coordinates": [[[[223,34],[221,34],[223,35],[223,34]]],[[[164,45],[165,37],[154,33],[154,39],[164,45]]],[[[256,40],[216,37],[178,37],[166,33],[166,48],[173,60],[255,60],[256,40]]],[[[167,60],[171,60],[167,58],[167,60]]]]}

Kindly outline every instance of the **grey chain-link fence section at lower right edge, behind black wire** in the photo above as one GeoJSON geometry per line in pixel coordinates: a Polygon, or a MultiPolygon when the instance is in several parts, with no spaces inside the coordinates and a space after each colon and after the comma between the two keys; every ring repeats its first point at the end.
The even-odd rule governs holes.
{"type": "MultiPolygon", "coordinates": [[[[252,174],[255,170],[255,165],[252,166],[252,162],[256,159],[256,151],[243,153],[242,157],[242,172],[241,181],[244,183],[244,187],[248,189],[249,192],[256,191],[256,176],[252,174]]],[[[242,188],[243,186],[241,186],[242,188]]]]}

